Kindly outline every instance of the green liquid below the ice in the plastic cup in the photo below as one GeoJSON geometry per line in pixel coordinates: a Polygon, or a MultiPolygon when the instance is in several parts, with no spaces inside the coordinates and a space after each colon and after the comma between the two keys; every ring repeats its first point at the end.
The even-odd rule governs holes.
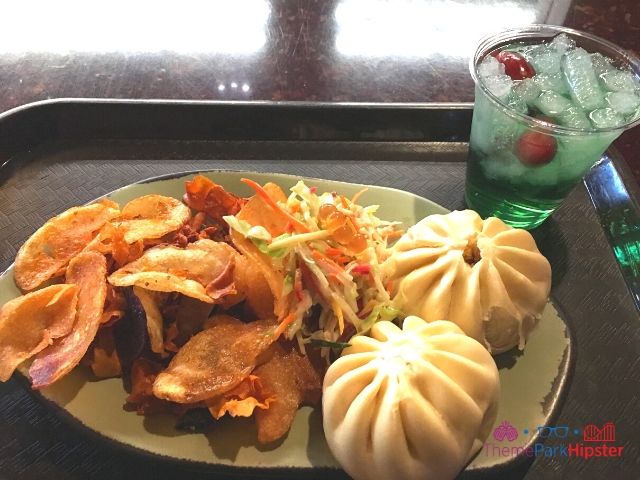
{"type": "Polygon", "coordinates": [[[555,155],[547,164],[531,166],[523,164],[516,151],[518,139],[536,129],[507,115],[507,110],[476,88],[465,200],[482,217],[531,229],[558,208],[621,131],[543,131],[555,139],[555,155]]]}

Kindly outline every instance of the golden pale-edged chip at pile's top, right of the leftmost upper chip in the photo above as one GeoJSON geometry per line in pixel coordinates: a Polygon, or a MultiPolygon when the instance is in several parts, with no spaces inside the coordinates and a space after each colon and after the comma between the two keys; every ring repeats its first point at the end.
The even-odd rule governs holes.
{"type": "Polygon", "coordinates": [[[125,241],[132,244],[164,237],[182,227],[189,218],[191,210],[180,200],[163,195],[144,195],[127,203],[113,223],[124,231],[125,241]]]}

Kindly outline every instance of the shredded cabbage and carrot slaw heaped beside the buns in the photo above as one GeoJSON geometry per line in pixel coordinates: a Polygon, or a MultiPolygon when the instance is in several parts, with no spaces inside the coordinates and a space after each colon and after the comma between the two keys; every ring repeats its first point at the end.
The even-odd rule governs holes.
{"type": "Polygon", "coordinates": [[[383,285],[381,264],[388,241],[402,233],[400,222],[379,219],[377,205],[358,205],[366,189],[348,199],[336,193],[317,194],[314,187],[299,181],[286,202],[276,202],[257,183],[243,182],[289,220],[287,233],[272,238],[260,225],[223,217],[284,274],[282,293],[288,309],[279,319],[277,336],[295,339],[303,353],[308,344],[319,347],[328,358],[332,349],[347,346],[352,335],[397,316],[383,285]],[[312,315],[316,305],[319,317],[317,312],[312,315]]]}

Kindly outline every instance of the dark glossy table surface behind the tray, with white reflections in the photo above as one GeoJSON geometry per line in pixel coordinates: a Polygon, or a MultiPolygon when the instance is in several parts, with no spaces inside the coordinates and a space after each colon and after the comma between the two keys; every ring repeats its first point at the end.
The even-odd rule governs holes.
{"type": "MultiPolygon", "coordinates": [[[[477,39],[528,23],[640,54],[637,0],[41,3],[3,5],[0,111],[62,97],[470,102],[477,39]]],[[[640,182],[640,127],[615,146],[640,182]]]]}

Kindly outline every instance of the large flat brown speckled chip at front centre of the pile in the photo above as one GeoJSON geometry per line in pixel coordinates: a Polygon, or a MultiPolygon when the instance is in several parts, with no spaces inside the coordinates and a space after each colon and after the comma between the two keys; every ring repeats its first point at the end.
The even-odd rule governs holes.
{"type": "Polygon", "coordinates": [[[206,400],[236,387],[273,343],[273,320],[243,323],[216,315],[193,336],[158,375],[156,397],[177,403],[206,400]]]}

